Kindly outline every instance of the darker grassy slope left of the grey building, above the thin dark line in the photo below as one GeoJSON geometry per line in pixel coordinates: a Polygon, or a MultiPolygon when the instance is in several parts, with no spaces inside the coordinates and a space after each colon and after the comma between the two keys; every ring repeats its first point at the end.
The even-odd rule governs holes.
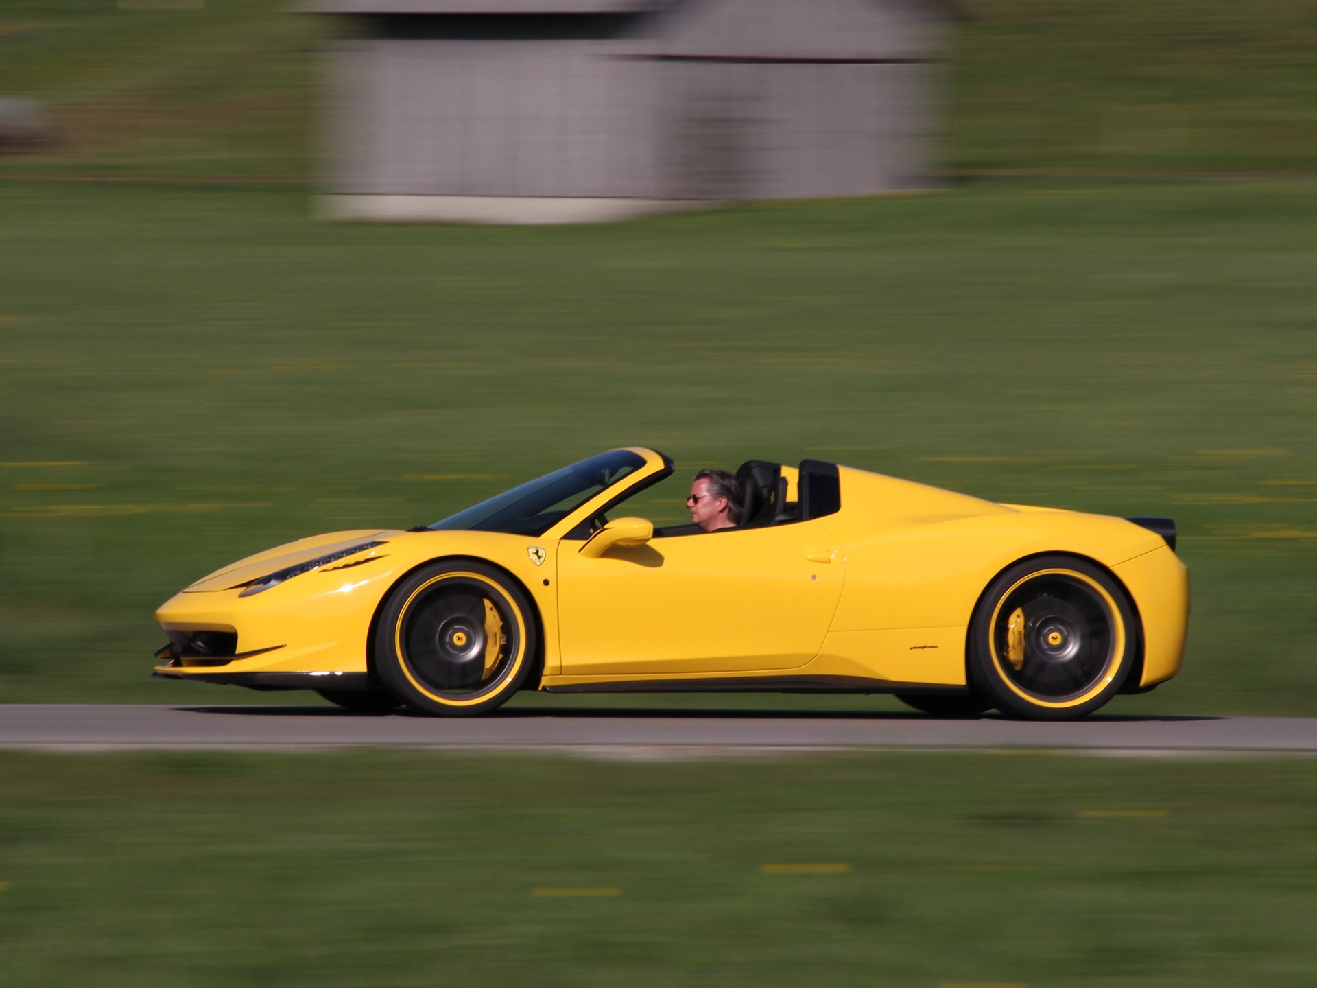
{"type": "Polygon", "coordinates": [[[150,3],[170,0],[0,0],[0,94],[55,128],[0,175],[307,175],[319,18],[284,0],[120,9],[150,3]]]}

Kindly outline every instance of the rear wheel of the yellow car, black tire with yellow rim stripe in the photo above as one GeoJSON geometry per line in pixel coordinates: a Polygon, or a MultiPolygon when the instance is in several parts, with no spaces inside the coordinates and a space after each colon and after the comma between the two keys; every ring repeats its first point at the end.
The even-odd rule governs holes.
{"type": "Polygon", "coordinates": [[[1139,648],[1125,590],[1073,556],[1017,563],[969,624],[969,681],[1010,717],[1073,721],[1121,689],[1139,648]]]}

